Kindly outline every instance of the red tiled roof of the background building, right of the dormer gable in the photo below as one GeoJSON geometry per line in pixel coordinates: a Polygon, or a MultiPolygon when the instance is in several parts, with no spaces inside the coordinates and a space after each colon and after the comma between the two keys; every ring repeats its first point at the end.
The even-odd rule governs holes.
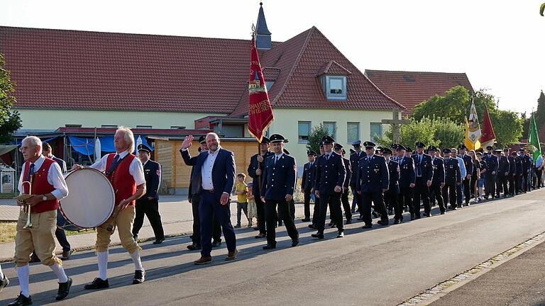
{"type": "Polygon", "coordinates": [[[402,72],[365,69],[365,75],[380,90],[407,108],[403,115],[410,115],[412,108],[435,95],[461,85],[473,91],[465,73],[402,72]]]}

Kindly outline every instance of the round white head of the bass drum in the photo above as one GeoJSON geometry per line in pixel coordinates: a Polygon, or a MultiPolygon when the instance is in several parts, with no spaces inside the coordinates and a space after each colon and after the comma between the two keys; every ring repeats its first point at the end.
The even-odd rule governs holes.
{"type": "Polygon", "coordinates": [[[66,219],[81,228],[102,225],[114,211],[115,194],[110,181],[101,172],[83,168],[65,177],[68,196],[60,202],[66,219]]]}

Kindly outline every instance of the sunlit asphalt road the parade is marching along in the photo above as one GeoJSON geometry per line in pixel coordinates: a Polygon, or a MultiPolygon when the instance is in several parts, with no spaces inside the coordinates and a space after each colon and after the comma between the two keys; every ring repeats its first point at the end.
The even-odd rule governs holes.
{"type": "MultiPolygon", "coordinates": [[[[336,229],[328,229],[324,240],[312,239],[307,223],[297,220],[301,244],[290,248],[281,227],[275,251],[263,251],[253,230],[240,229],[238,259],[223,261],[222,244],[207,266],[192,264],[199,254],[185,249],[188,237],[147,243],[142,257],[148,274],[141,285],[131,285],[133,263],[116,247],[110,252],[111,287],[99,291],[83,290],[97,276],[94,253],[86,252],[65,261],[74,279],[66,300],[55,302],[54,274],[36,264],[31,294],[34,305],[397,305],[544,232],[544,195],[532,191],[389,227],[361,229],[358,222],[342,239],[334,239],[336,229]]],[[[18,294],[15,271],[2,267],[12,283],[0,305],[18,294]]]]}

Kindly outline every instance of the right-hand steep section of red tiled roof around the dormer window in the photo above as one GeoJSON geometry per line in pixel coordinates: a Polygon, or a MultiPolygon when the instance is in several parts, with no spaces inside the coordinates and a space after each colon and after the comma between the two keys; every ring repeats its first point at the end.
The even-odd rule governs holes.
{"type": "MultiPolygon", "coordinates": [[[[316,27],[282,42],[260,58],[262,67],[280,68],[269,92],[272,108],[391,110],[404,107],[382,93],[316,27]],[[328,101],[316,77],[329,67],[347,76],[346,101],[328,101]]],[[[248,94],[231,115],[248,112],[248,94]]]]}

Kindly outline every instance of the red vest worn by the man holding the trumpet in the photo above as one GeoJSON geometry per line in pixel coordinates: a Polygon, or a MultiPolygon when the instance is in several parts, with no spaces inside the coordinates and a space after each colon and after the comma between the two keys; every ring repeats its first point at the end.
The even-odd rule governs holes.
{"type": "MultiPolygon", "coordinates": [[[[50,166],[55,163],[53,159],[44,159],[40,169],[36,171],[34,169],[34,178],[32,181],[32,194],[33,195],[45,195],[55,190],[55,187],[48,182],[48,172],[50,166]]],[[[23,179],[28,175],[28,169],[30,169],[31,163],[25,162],[23,166],[23,179]]],[[[23,191],[26,194],[29,194],[28,183],[23,184],[23,191]]],[[[46,212],[49,210],[56,210],[59,207],[59,200],[45,200],[36,205],[31,209],[32,213],[46,212]]]]}

